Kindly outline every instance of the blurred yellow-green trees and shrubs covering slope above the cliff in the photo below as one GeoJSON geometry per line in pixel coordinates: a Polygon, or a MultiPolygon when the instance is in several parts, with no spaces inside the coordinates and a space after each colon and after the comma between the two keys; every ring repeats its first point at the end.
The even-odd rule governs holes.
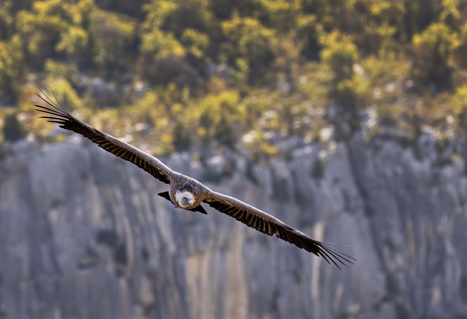
{"type": "Polygon", "coordinates": [[[37,87],[155,155],[450,139],[467,124],[466,17],[466,0],[0,0],[0,141],[65,137],[35,120],[37,87]]]}

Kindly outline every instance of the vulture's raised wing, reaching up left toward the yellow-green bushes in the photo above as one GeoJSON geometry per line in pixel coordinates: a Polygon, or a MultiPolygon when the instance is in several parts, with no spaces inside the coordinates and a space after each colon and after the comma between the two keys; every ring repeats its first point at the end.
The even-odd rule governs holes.
{"type": "MultiPolygon", "coordinates": [[[[43,93],[44,92],[42,92],[42,94],[43,93]]],[[[49,119],[48,122],[61,124],[61,128],[71,130],[83,135],[84,137],[87,137],[89,140],[98,144],[99,147],[105,149],[107,152],[123,158],[128,162],[134,163],[136,166],[147,171],[161,182],[170,184],[170,177],[173,173],[172,170],[165,166],[156,157],[151,156],[148,153],[145,153],[142,150],[131,146],[130,144],[120,141],[118,138],[102,133],[101,131],[87,125],[82,121],[79,121],[70,113],[68,113],[60,103],[60,106],[57,106],[54,102],[47,98],[47,96],[46,98],[49,99],[52,104],[43,99],[39,94],[37,94],[37,96],[39,96],[45,103],[49,104],[50,107],[35,105],[35,107],[40,108],[35,110],[53,115],[41,116],[40,118],[49,119]]]]}

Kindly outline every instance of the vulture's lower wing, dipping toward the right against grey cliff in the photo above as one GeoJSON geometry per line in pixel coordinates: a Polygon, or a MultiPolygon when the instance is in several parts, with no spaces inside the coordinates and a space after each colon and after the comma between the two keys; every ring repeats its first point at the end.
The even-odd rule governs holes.
{"type": "Polygon", "coordinates": [[[354,258],[329,247],[329,245],[332,244],[316,241],[299,232],[297,229],[284,224],[282,221],[268,213],[264,213],[253,206],[249,206],[237,198],[212,192],[203,202],[212,208],[217,209],[219,212],[225,213],[230,217],[241,221],[243,224],[255,228],[259,232],[268,234],[269,236],[276,234],[280,239],[288,241],[291,244],[295,244],[298,248],[303,248],[317,256],[322,256],[328,263],[330,263],[329,261],[333,262],[339,269],[340,267],[335,261],[338,261],[343,265],[346,265],[344,261],[353,263],[349,259],[354,258]]]}

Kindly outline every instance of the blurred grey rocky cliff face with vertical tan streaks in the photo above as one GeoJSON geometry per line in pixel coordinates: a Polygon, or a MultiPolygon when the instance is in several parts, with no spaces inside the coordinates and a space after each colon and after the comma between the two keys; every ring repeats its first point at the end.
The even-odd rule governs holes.
{"type": "Polygon", "coordinates": [[[430,136],[418,149],[356,136],[269,166],[164,160],[351,245],[358,262],[340,271],[211,208],[173,208],[156,195],[167,185],[77,136],[5,145],[0,318],[467,318],[465,163],[439,164],[430,136]]]}

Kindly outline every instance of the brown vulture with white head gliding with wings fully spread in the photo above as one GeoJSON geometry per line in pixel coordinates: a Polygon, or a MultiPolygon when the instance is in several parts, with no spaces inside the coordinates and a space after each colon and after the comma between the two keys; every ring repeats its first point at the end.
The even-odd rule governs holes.
{"type": "MultiPolygon", "coordinates": [[[[42,94],[44,93],[42,92],[42,94]]],[[[212,191],[196,179],[171,170],[156,157],[79,121],[68,113],[58,100],[59,105],[57,106],[45,94],[44,96],[50,102],[43,99],[39,94],[37,96],[49,105],[49,107],[35,105],[35,107],[39,108],[35,110],[48,113],[48,116],[41,116],[40,118],[48,119],[49,122],[60,124],[59,127],[61,128],[83,135],[107,152],[130,163],[134,163],[153,177],[156,177],[159,181],[169,184],[169,191],[159,193],[158,195],[169,200],[175,207],[207,214],[203,206],[200,205],[201,203],[205,203],[219,212],[241,221],[248,227],[255,228],[259,232],[268,234],[269,236],[276,234],[278,238],[288,241],[290,244],[295,244],[298,248],[303,248],[317,256],[322,256],[329,264],[333,262],[339,269],[340,267],[336,262],[346,265],[344,261],[353,263],[349,259],[355,260],[330,247],[333,244],[314,240],[268,213],[250,206],[237,198],[212,191]]]]}

